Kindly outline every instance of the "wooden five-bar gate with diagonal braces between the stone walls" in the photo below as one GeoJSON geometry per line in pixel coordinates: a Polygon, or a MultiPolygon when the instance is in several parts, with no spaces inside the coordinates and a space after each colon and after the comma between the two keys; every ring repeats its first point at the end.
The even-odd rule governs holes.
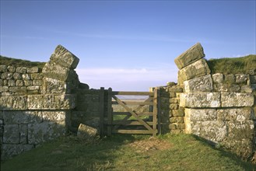
{"type": "MultiPolygon", "coordinates": [[[[160,133],[160,93],[154,92],[117,92],[107,90],[107,114],[103,117],[103,132],[107,128],[108,136],[111,134],[153,134],[160,133]],[[146,96],[146,99],[127,99],[118,96],[146,96]],[[117,107],[119,110],[117,110],[117,107]],[[133,106],[133,107],[132,107],[133,106]],[[120,110],[121,109],[121,110],[120,110]],[[106,117],[107,115],[107,117],[106,117]]],[[[103,99],[102,99],[103,100],[103,99]]],[[[106,101],[106,100],[105,100],[106,101]]],[[[106,105],[105,105],[106,106],[106,105]]]]}

